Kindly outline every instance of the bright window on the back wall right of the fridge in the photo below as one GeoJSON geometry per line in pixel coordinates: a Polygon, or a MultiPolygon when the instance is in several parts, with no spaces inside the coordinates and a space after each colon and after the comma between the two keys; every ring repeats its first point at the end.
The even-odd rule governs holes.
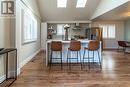
{"type": "Polygon", "coordinates": [[[100,25],[103,29],[103,38],[116,38],[115,25],[100,25]]]}

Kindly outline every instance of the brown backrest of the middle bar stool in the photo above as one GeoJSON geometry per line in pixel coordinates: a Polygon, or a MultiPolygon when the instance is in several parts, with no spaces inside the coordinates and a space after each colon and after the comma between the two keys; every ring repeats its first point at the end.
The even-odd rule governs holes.
{"type": "Polygon", "coordinates": [[[80,41],[71,41],[70,48],[71,51],[79,51],[81,49],[81,42],[80,41]]]}

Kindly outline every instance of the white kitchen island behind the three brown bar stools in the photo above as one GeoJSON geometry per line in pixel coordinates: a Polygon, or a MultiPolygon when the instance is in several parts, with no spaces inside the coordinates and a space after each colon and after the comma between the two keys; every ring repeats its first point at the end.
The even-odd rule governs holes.
{"type": "MultiPolygon", "coordinates": [[[[50,60],[50,52],[51,52],[51,42],[52,41],[61,41],[62,43],[63,43],[63,49],[62,49],[62,55],[63,55],[63,63],[66,63],[66,59],[67,59],[67,51],[68,51],[68,48],[69,48],[69,46],[70,46],[70,42],[71,42],[71,40],[53,40],[53,39],[50,39],[50,40],[47,40],[46,41],[46,65],[48,65],[48,63],[49,63],[49,60],[50,60]]],[[[79,40],[77,40],[77,41],[80,41],[81,42],[81,50],[80,50],[80,52],[81,52],[81,59],[83,58],[83,52],[84,52],[84,47],[88,47],[88,43],[91,41],[91,40],[87,40],[87,39],[79,39],[79,40]]],[[[100,54],[100,58],[102,59],[102,55],[101,55],[101,41],[100,41],[100,47],[99,47],[99,54],[100,54]]],[[[90,52],[90,56],[92,56],[92,52],[90,52]]],[[[75,54],[72,54],[73,56],[75,55],[75,54]]],[[[87,54],[86,54],[87,55],[87,54]]],[[[95,57],[95,61],[98,61],[97,59],[97,52],[95,52],[95,54],[94,54],[94,57],[95,57]]],[[[56,55],[55,53],[54,53],[54,55],[53,55],[53,57],[55,58],[55,57],[57,57],[58,55],[56,55]]],[[[53,62],[55,62],[55,61],[53,61],[53,62]]],[[[56,61],[57,62],[57,61],[56,61]]],[[[75,61],[74,61],[75,62],[75,61]]],[[[81,61],[80,61],[81,62],[81,61]]]]}

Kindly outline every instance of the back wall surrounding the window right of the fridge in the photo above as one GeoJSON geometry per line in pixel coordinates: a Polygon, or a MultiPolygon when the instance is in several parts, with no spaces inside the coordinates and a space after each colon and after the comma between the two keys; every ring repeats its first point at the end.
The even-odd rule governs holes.
{"type": "Polygon", "coordinates": [[[99,27],[99,24],[115,24],[116,38],[103,39],[103,47],[104,49],[116,49],[118,47],[117,41],[124,40],[124,22],[123,21],[98,21],[98,22],[93,22],[92,27],[99,27]]]}

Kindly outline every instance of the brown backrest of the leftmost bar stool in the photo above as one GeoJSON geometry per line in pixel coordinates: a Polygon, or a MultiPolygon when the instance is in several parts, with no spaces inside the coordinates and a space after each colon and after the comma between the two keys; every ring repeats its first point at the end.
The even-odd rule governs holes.
{"type": "Polygon", "coordinates": [[[62,51],[62,42],[61,41],[52,41],[51,50],[52,51],[62,51]]]}

